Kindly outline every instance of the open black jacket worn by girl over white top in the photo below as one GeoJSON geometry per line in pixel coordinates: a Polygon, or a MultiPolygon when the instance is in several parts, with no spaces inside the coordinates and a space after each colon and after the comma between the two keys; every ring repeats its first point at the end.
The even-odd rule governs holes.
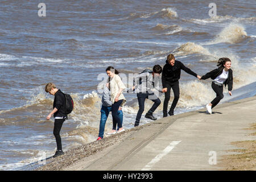
{"type": "MultiPolygon", "coordinates": [[[[214,80],[217,76],[221,75],[223,72],[223,67],[213,69],[213,71],[210,71],[209,73],[205,74],[201,77],[201,80],[206,80],[207,78],[212,78],[214,80]]],[[[233,88],[233,71],[232,69],[229,69],[229,75],[226,81],[224,82],[224,85],[228,85],[228,90],[231,91],[233,88]]]]}

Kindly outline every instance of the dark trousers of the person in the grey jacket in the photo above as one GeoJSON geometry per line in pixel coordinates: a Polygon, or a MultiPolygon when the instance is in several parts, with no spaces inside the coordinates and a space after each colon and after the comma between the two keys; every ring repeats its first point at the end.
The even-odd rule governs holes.
{"type": "Polygon", "coordinates": [[[147,112],[148,114],[154,113],[156,108],[161,104],[160,99],[156,97],[154,93],[137,93],[137,98],[139,102],[139,110],[136,116],[135,125],[139,125],[139,121],[141,120],[141,115],[144,111],[146,98],[154,102],[150,110],[148,110],[147,112]]]}

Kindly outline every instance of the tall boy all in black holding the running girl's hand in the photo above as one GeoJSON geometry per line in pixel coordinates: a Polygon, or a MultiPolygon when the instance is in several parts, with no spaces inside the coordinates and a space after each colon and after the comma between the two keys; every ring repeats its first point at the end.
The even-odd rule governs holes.
{"type": "Polygon", "coordinates": [[[167,56],[166,64],[163,67],[162,73],[162,84],[166,91],[164,93],[163,117],[167,117],[167,107],[170,100],[171,88],[174,91],[174,100],[172,101],[172,105],[168,111],[168,114],[174,115],[174,109],[180,97],[179,79],[181,69],[190,75],[193,75],[199,79],[201,78],[195,72],[192,72],[191,69],[185,67],[183,63],[175,60],[174,55],[170,54],[167,56]]]}

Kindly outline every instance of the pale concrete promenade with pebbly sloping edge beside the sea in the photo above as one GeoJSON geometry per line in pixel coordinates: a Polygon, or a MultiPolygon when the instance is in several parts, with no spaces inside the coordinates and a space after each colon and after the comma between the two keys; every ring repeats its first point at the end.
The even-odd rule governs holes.
{"type": "Polygon", "coordinates": [[[160,118],[73,148],[48,159],[47,164],[35,170],[141,170],[172,141],[182,142],[168,158],[156,163],[153,170],[229,170],[230,167],[254,170],[255,133],[252,135],[252,129],[245,128],[251,126],[255,130],[255,104],[256,96],[218,105],[211,115],[200,109],[160,118]],[[239,148],[234,146],[236,141],[239,148]],[[241,152],[240,147],[248,148],[242,154],[246,161],[239,154],[233,155],[241,152]],[[215,151],[218,164],[221,161],[222,164],[210,164],[209,151],[215,151]]]}

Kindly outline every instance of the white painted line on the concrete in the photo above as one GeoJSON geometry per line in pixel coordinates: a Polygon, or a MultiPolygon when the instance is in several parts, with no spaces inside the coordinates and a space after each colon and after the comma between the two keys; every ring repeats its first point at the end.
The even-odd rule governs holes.
{"type": "Polygon", "coordinates": [[[156,155],[154,159],[152,159],[149,163],[147,163],[147,165],[144,168],[141,169],[141,171],[149,171],[152,168],[152,166],[154,166],[155,163],[159,162],[159,160],[161,160],[163,158],[163,156],[165,156],[166,154],[171,152],[172,149],[174,149],[174,147],[177,144],[179,144],[180,142],[181,141],[173,141],[173,142],[171,142],[166,148],[164,148],[162,153],[156,155]]]}

